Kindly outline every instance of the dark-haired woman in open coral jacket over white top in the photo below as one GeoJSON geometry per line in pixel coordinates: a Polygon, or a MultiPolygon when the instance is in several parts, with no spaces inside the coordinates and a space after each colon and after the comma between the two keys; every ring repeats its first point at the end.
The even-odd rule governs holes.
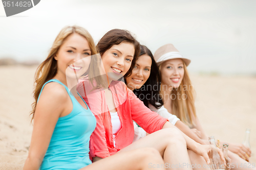
{"type": "MultiPolygon", "coordinates": [[[[187,154],[189,148],[203,156],[209,164],[209,145],[201,145],[187,137],[166,118],[148,109],[125,83],[117,81],[122,76],[126,78],[131,75],[138,58],[140,45],[134,36],[125,30],[111,30],[100,39],[97,47],[106,72],[108,88],[84,91],[86,96],[83,99],[89,104],[97,120],[90,141],[90,155],[93,160],[97,161],[117,152],[119,154],[150,147],[158,150],[165,163],[190,164],[187,154]],[[132,143],[133,120],[152,134],[132,143]]],[[[79,88],[87,84],[83,81],[79,88]]],[[[223,154],[219,153],[225,162],[223,154]]]]}

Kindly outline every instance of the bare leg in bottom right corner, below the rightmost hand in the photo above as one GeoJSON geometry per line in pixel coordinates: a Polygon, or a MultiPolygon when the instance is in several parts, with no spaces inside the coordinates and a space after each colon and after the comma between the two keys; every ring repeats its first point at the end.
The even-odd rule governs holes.
{"type": "Polygon", "coordinates": [[[231,159],[231,170],[256,170],[249,162],[231,151],[228,151],[228,157],[231,159]]]}

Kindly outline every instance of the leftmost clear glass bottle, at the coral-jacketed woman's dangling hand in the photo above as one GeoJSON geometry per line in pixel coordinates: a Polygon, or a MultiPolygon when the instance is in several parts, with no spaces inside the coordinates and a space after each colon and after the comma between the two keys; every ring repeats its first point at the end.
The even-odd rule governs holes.
{"type": "Polygon", "coordinates": [[[224,163],[221,160],[221,157],[218,153],[214,136],[208,137],[210,145],[212,145],[212,150],[210,152],[210,169],[223,169],[224,170],[224,163]]]}

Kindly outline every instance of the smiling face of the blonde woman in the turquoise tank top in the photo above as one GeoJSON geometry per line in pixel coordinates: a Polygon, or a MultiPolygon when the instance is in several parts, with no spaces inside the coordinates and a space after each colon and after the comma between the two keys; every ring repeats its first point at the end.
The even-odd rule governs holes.
{"type": "Polygon", "coordinates": [[[87,39],[71,34],[60,46],[56,56],[57,74],[70,78],[80,77],[87,71],[92,52],[87,39]]]}

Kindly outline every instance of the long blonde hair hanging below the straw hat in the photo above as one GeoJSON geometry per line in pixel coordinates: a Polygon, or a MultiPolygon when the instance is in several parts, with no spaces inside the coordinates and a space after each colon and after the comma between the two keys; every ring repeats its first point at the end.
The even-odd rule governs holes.
{"type": "MultiPolygon", "coordinates": [[[[183,62],[184,65],[184,76],[181,81],[181,84],[178,88],[173,88],[171,95],[175,94],[178,96],[180,94],[181,98],[178,99],[176,97],[172,100],[171,107],[172,107],[172,114],[175,114],[180,120],[188,125],[189,127],[195,126],[195,118],[196,118],[196,108],[195,108],[195,90],[194,86],[191,84],[189,79],[188,71],[186,64],[183,62]],[[192,87],[193,89],[190,89],[192,87]],[[187,89],[188,88],[188,89],[187,89]],[[186,96],[185,99],[182,96],[186,96]]],[[[159,68],[161,65],[159,66],[159,68]]]]}

